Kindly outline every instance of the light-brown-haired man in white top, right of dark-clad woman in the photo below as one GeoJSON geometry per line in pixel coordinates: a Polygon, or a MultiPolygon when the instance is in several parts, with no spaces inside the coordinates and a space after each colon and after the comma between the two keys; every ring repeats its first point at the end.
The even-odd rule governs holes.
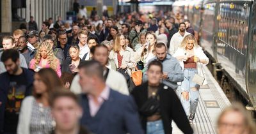
{"type": "Polygon", "coordinates": [[[90,48],[87,45],[87,38],[88,38],[88,32],[87,31],[81,31],[79,33],[78,39],[78,47],[79,47],[79,57],[83,61],[88,61],[90,59],[90,48]]]}

